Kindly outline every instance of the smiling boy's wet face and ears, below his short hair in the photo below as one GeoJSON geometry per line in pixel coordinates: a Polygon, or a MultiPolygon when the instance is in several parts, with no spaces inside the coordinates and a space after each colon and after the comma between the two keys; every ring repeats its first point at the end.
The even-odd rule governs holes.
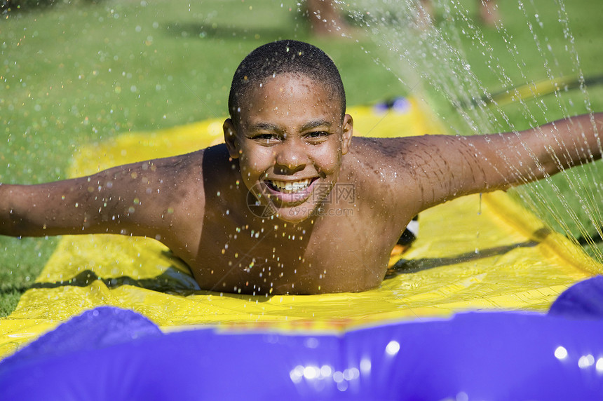
{"type": "Polygon", "coordinates": [[[224,123],[229,153],[259,202],[280,219],[302,222],[337,182],[352,118],[342,121],[332,91],[304,75],[280,74],[249,90],[238,130],[224,123]]]}

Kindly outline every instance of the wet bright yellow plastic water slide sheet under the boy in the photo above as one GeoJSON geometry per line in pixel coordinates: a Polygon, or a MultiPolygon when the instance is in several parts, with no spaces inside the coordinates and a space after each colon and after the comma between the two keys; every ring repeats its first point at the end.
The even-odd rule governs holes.
{"type": "MultiPolygon", "coordinates": [[[[419,102],[355,107],[357,135],[442,133],[419,102]]],[[[71,175],[182,154],[222,142],[222,119],[139,132],[78,149],[71,175]]],[[[15,311],[0,320],[0,356],[96,306],[132,309],[162,329],[338,331],[459,311],[546,311],[560,292],[601,271],[503,192],[466,196],[421,213],[419,238],[393,273],[361,293],[252,297],[195,289],[187,267],[155,240],[64,236],[15,311]]]]}

